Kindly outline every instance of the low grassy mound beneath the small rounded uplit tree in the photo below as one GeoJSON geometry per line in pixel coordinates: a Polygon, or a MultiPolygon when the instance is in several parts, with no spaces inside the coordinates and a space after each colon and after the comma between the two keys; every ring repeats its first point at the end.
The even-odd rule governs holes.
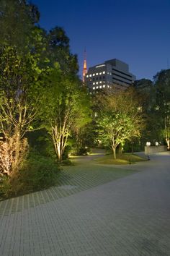
{"type": "Polygon", "coordinates": [[[117,154],[117,159],[113,158],[113,155],[104,155],[101,158],[94,159],[97,163],[101,164],[131,164],[131,163],[137,163],[140,161],[147,161],[147,158],[142,158],[139,155],[130,154],[130,153],[124,153],[121,155],[117,154]]]}

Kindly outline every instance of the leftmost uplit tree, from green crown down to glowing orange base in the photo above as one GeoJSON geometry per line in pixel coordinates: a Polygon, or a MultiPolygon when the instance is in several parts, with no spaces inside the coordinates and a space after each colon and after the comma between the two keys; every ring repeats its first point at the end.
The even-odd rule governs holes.
{"type": "MultiPolygon", "coordinates": [[[[3,137],[1,156],[11,159],[9,171],[5,171],[10,175],[20,168],[20,160],[23,159],[27,150],[24,135],[32,129],[32,121],[38,114],[42,74],[45,71],[38,67],[38,61],[39,58],[36,55],[17,54],[17,49],[14,47],[1,48],[0,132],[3,137]]],[[[1,158],[2,173],[3,166],[1,158]]]]}

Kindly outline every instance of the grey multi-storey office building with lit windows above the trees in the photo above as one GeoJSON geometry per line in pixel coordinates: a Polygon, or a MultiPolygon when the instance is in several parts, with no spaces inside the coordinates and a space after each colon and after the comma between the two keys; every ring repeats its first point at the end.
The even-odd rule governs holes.
{"type": "Polygon", "coordinates": [[[128,64],[119,59],[111,59],[104,63],[89,67],[84,77],[85,85],[90,91],[115,88],[125,90],[135,81],[135,76],[129,72],[128,64]]]}

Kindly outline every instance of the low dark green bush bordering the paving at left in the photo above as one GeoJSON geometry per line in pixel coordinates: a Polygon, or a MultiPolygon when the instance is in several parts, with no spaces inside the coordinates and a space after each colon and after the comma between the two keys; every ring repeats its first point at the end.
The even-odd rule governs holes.
{"type": "Polygon", "coordinates": [[[30,155],[15,176],[4,176],[0,182],[0,197],[13,197],[47,189],[57,183],[60,168],[52,158],[30,155]]]}

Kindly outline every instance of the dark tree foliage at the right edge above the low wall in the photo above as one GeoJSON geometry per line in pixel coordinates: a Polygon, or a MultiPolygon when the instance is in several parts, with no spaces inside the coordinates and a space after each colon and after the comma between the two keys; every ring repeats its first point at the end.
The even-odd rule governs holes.
{"type": "Polygon", "coordinates": [[[151,91],[150,108],[146,110],[146,130],[143,132],[143,141],[167,143],[170,142],[170,69],[161,70],[154,78],[151,91]]]}

